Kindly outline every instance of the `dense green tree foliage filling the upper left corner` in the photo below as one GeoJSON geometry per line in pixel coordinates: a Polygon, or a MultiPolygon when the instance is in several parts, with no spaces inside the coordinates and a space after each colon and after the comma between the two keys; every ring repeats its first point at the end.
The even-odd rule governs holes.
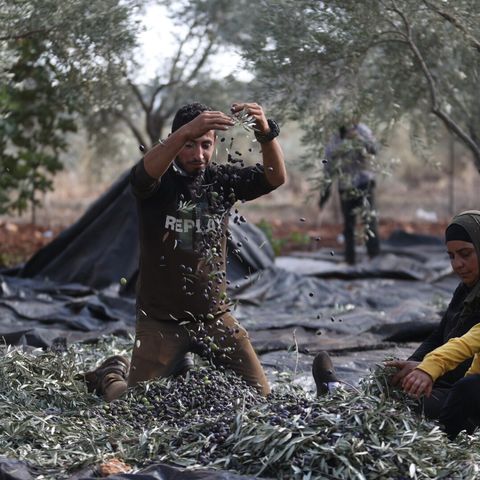
{"type": "Polygon", "coordinates": [[[38,203],[65,134],[124,75],[141,0],[0,0],[0,212],[38,203]]]}

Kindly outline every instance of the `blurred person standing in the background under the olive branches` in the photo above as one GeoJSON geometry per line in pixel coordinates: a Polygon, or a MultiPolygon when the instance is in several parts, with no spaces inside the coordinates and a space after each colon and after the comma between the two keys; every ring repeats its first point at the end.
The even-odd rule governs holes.
{"type": "Polygon", "coordinates": [[[367,253],[370,258],[380,252],[375,211],[375,176],[369,168],[369,158],[377,152],[371,130],[356,120],[340,125],[325,150],[327,185],[320,194],[319,207],[327,202],[331,183],[338,179],[343,214],[345,261],[354,265],[355,224],[357,215],[364,222],[367,253]]]}

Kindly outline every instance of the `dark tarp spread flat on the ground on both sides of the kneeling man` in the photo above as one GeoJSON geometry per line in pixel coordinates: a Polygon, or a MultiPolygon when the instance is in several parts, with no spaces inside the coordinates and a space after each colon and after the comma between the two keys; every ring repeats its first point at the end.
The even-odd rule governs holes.
{"type": "MultiPolygon", "coordinates": [[[[403,341],[412,340],[412,325],[420,326],[426,335],[438,322],[437,302],[448,299],[454,284],[452,278],[434,283],[323,279],[272,266],[237,282],[238,288],[232,284],[232,295],[238,296],[236,315],[250,330],[269,378],[273,381],[278,370],[295,370],[297,381],[311,390],[311,362],[318,350],[332,353],[340,378],[350,383],[387,355],[407,356],[414,346],[398,349],[392,337],[408,334],[403,341]],[[292,350],[295,343],[298,352],[292,350]]],[[[95,341],[104,333],[133,331],[134,299],[120,297],[118,288],[100,291],[6,276],[0,278],[0,285],[0,336],[9,344],[48,347],[62,339],[95,341]]],[[[12,461],[0,459],[0,472],[4,471],[0,478],[32,478],[21,462],[12,470],[12,461]]],[[[168,468],[152,466],[151,470],[111,478],[242,478],[228,472],[197,471],[177,476],[168,468]]],[[[91,477],[72,480],[75,478],[91,477]]]]}

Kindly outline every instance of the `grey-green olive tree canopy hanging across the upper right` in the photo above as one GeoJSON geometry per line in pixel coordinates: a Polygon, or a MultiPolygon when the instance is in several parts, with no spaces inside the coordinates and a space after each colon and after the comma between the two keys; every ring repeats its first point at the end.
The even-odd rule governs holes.
{"type": "Polygon", "coordinates": [[[479,2],[259,0],[251,13],[235,40],[317,151],[338,115],[377,131],[408,117],[431,141],[443,124],[480,169],[479,2]]]}

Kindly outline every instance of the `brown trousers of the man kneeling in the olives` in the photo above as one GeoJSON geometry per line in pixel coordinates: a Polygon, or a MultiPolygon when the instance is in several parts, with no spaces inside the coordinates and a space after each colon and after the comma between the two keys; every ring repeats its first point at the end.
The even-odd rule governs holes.
{"type": "Polygon", "coordinates": [[[127,382],[113,382],[105,392],[111,401],[127,386],[181,374],[190,366],[188,353],[208,358],[215,366],[233,370],[262,395],[270,386],[247,331],[230,314],[203,322],[137,319],[127,382]]]}

